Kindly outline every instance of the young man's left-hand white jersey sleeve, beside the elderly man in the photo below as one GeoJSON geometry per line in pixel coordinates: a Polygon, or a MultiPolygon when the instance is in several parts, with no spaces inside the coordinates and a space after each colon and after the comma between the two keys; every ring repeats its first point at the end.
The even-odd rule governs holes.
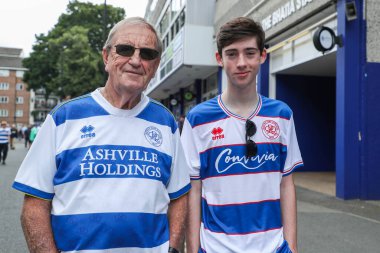
{"type": "Polygon", "coordinates": [[[186,162],[189,167],[189,174],[191,180],[200,179],[200,158],[197,145],[194,139],[193,128],[189,121],[186,119],[183,124],[181,142],[186,154],[186,162]]]}

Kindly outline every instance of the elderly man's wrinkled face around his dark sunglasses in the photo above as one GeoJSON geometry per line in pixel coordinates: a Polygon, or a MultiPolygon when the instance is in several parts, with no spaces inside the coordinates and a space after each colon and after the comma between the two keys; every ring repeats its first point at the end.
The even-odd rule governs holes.
{"type": "Polygon", "coordinates": [[[139,49],[130,57],[119,55],[115,46],[121,44],[156,49],[155,34],[142,24],[126,24],[114,35],[109,53],[103,49],[105,69],[109,74],[108,82],[115,91],[141,93],[154,76],[160,59],[157,57],[154,60],[144,60],[140,57],[139,49]]]}

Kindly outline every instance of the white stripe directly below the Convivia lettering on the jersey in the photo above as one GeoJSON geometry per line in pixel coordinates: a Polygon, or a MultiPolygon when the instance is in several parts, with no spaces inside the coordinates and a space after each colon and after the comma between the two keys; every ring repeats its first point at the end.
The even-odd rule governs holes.
{"type": "Polygon", "coordinates": [[[279,199],[281,178],[280,172],[211,177],[202,181],[202,197],[211,205],[279,199]]]}

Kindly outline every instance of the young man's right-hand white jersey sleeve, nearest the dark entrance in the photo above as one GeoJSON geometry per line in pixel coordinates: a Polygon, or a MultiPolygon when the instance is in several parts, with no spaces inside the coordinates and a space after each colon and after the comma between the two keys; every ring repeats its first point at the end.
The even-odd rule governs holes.
{"type": "Polygon", "coordinates": [[[293,115],[289,119],[285,135],[287,154],[283,170],[283,176],[290,175],[296,168],[303,166],[301,152],[298,147],[293,115]]]}

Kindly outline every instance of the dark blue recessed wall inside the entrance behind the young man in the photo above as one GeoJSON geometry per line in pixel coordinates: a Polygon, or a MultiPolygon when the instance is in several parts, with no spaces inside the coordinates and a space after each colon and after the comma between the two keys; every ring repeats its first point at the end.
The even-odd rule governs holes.
{"type": "Polygon", "coordinates": [[[335,77],[277,75],[276,84],[294,113],[302,171],[335,171],[335,77]]]}

